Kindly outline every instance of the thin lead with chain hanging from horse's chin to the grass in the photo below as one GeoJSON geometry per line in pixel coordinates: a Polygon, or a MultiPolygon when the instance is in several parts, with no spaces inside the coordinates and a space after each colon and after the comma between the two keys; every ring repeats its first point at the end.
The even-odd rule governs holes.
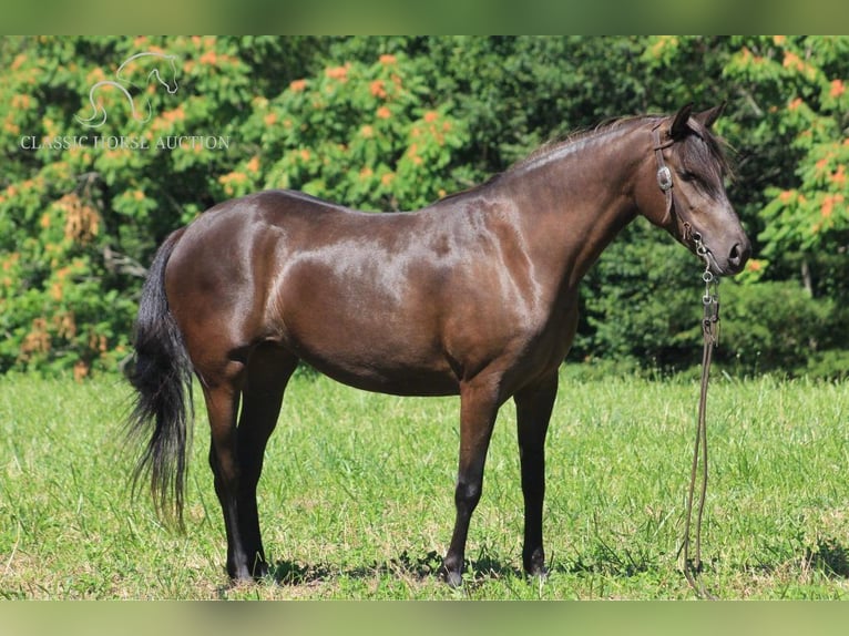
{"type": "Polygon", "coordinates": [[[704,306],[704,317],[702,319],[702,335],[704,339],[704,349],[702,351],[702,393],[698,400],[698,423],[696,425],[696,441],[693,448],[693,466],[689,473],[689,490],[687,492],[687,512],[684,524],[684,540],[678,554],[684,555],[684,576],[687,583],[699,598],[716,598],[697,579],[702,572],[702,519],[705,512],[705,499],[707,495],[707,382],[710,373],[710,360],[714,353],[714,347],[719,339],[719,279],[710,271],[710,263],[707,258],[707,248],[702,243],[702,236],[698,233],[693,235],[696,242],[696,254],[705,261],[705,271],[702,274],[702,280],[705,283],[705,294],[702,297],[704,306]],[[699,452],[700,451],[700,452],[699,452]],[[700,489],[698,496],[698,512],[696,515],[696,553],[695,557],[689,556],[689,535],[693,520],[693,497],[696,490],[696,475],[698,472],[699,457],[702,459],[700,489]]]}

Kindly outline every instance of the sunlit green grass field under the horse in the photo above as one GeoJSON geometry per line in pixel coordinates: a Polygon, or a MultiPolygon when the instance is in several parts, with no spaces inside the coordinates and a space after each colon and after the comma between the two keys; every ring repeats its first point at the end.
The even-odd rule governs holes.
{"type": "MultiPolygon", "coordinates": [[[[564,371],[548,440],[550,575],[521,573],[511,404],[495,427],[462,591],[434,575],[453,523],[458,401],[298,376],[266,453],[274,579],[229,587],[198,402],[186,532],[131,502],[115,377],[0,379],[0,597],[692,598],[678,570],[698,387],[564,371]]],[[[849,597],[847,384],[717,378],[703,579],[720,598],[849,597]]]]}

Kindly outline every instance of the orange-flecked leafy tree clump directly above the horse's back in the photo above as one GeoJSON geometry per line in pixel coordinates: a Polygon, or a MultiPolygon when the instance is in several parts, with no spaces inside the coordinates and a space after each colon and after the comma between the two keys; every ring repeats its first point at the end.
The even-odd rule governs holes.
{"type": "Polygon", "coordinates": [[[286,187],[374,211],[444,196],[456,187],[447,167],[464,131],[449,105],[429,107],[420,65],[390,54],[348,61],[257,98],[242,127],[257,154],[223,175],[217,194],[286,187]]]}

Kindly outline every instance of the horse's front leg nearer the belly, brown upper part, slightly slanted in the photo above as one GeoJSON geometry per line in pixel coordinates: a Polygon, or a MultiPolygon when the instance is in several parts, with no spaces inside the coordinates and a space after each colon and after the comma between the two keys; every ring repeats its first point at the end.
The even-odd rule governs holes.
{"type": "Polygon", "coordinates": [[[451,545],[442,562],[442,574],[452,587],[462,584],[469,522],[481,499],[483,465],[499,408],[495,387],[495,382],[485,380],[460,387],[460,466],[454,490],[457,519],[451,545]]]}

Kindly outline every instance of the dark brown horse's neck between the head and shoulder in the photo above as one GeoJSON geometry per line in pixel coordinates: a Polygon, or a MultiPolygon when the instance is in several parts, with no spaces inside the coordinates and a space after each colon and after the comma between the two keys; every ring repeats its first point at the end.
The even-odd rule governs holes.
{"type": "Polygon", "coordinates": [[[518,203],[530,255],[560,286],[574,289],[636,215],[628,184],[651,156],[642,126],[582,139],[520,166],[505,179],[518,203]]]}

